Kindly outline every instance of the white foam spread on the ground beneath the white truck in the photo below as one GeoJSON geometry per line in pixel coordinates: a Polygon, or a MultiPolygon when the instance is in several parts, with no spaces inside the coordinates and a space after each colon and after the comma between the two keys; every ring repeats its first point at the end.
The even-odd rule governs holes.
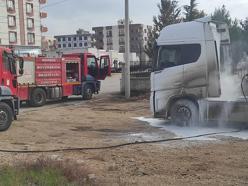
{"type": "MultiPolygon", "coordinates": [[[[208,133],[221,133],[221,132],[227,132],[225,134],[219,134],[220,136],[226,136],[226,137],[234,137],[234,138],[240,138],[243,140],[248,139],[248,130],[241,131],[241,132],[235,132],[232,133],[232,131],[235,131],[237,129],[231,129],[231,128],[205,128],[205,127],[180,127],[172,124],[166,123],[164,120],[160,119],[154,119],[154,118],[144,118],[144,117],[138,117],[134,118],[139,121],[147,122],[149,125],[153,127],[160,128],[161,130],[166,130],[171,133],[174,133],[176,137],[190,137],[190,136],[198,136],[208,133]]],[[[190,138],[187,140],[217,140],[214,138],[214,136],[203,136],[203,137],[197,137],[197,138],[190,138]]]]}

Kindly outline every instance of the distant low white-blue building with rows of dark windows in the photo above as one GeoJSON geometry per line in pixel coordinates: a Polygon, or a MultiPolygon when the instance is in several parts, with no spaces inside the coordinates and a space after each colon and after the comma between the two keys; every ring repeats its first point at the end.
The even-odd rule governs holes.
{"type": "Polygon", "coordinates": [[[61,52],[93,47],[92,34],[83,29],[77,30],[76,34],[55,36],[55,39],[61,52]]]}

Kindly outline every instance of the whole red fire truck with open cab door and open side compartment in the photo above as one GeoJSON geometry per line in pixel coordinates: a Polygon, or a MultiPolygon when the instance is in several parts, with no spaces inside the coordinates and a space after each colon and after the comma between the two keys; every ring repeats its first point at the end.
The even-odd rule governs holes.
{"type": "Polygon", "coordinates": [[[18,78],[18,96],[31,106],[50,99],[80,95],[91,99],[100,91],[100,80],[110,75],[110,58],[93,54],[68,54],[62,58],[24,57],[24,74],[18,78]]]}

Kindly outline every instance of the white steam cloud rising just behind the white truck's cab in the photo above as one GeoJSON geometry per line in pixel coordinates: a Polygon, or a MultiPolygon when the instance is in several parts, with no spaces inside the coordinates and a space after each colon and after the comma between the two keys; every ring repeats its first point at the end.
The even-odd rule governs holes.
{"type": "Polygon", "coordinates": [[[247,56],[238,63],[236,69],[233,69],[232,65],[234,63],[228,53],[224,52],[223,57],[224,67],[220,73],[221,96],[219,98],[209,99],[212,102],[207,106],[208,110],[213,109],[215,113],[219,113],[214,118],[214,120],[218,120],[219,127],[226,127],[227,122],[231,121],[232,115],[236,111],[235,105],[237,101],[243,99],[241,79],[247,73],[248,69],[247,56]]]}

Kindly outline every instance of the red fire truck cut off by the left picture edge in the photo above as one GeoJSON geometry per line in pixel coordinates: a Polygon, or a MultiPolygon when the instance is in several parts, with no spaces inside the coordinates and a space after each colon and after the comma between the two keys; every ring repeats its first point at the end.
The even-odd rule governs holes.
{"type": "Polygon", "coordinates": [[[17,60],[19,74],[22,74],[23,59],[15,56],[10,49],[0,47],[0,131],[7,130],[19,113],[17,60]]]}

